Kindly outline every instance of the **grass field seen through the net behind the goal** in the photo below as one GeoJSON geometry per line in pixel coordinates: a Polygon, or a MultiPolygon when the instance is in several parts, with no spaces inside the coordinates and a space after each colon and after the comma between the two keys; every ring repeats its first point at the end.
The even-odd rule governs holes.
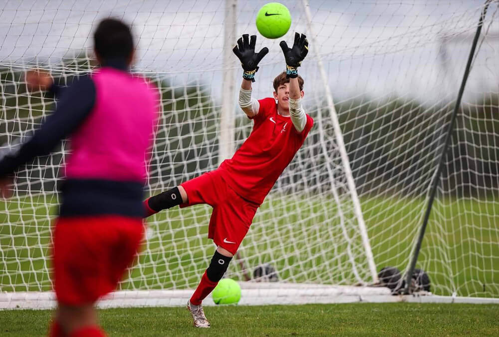
{"type": "MultiPolygon", "coordinates": [[[[333,219],[337,210],[332,200],[307,200],[296,212],[287,198],[269,196],[258,210],[242,246],[246,265],[272,261],[280,279],[290,282],[355,283],[346,241],[333,219]]],[[[0,291],[50,290],[49,261],[43,257],[50,240],[47,214],[55,214],[55,204],[50,195],[0,203],[0,223],[10,224],[0,226],[0,291]]],[[[424,200],[362,200],[378,270],[407,265],[424,205],[424,200]]],[[[207,238],[210,211],[205,206],[175,208],[152,217],[140,264],[121,288],[196,287],[213,254],[207,238]]],[[[418,262],[430,275],[432,291],[499,297],[499,203],[448,200],[436,204],[432,219],[418,262]]],[[[349,231],[360,242],[358,233],[349,231]]],[[[352,251],[360,272],[369,279],[362,246],[352,251]]],[[[237,264],[231,264],[227,276],[242,279],[237,264]]]]}

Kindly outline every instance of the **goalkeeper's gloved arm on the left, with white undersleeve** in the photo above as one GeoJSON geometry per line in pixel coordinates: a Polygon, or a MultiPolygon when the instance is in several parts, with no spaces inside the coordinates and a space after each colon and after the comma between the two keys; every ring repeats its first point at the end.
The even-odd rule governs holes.
{"type": "Polygon", "coordinates": [[[254,82],[254,74],[258,71],[258,62],[268,53],[268,48],[263,47],[258,53],[254,52],[256,35],[244,34],[238,39],[238,45],[233,49],[243,66],[243,83],[239,91],[239,106],[248,115],[253,117],[258,113],[260,104],[251,98],[251,83],[254,82]]]}

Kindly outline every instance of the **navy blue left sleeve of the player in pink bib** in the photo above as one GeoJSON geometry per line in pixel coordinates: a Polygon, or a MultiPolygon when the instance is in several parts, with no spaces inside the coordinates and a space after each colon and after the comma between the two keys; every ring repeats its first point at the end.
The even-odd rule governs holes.
{"type": "Polygon", "coordinates": [[[52,86],[50,91],[59,92],[55,111],[41,127],[20,146],[0,153],[0,177],[13,173],[19,166],[37,156],[44,156],[80,126],[95,104],[95,85],[89,76],[82,76],[62,92],[52,86]]]}

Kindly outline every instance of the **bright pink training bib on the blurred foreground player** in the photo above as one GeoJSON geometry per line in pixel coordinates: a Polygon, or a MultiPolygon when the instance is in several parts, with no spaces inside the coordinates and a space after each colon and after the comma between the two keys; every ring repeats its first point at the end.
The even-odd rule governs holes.
{"type": "Polygon", "coordinates": [[[67,178],[145,181],[146,154],[158,118],[158,92],[113,68],[92,75],[93,110],[70,138],[67,178]]]}

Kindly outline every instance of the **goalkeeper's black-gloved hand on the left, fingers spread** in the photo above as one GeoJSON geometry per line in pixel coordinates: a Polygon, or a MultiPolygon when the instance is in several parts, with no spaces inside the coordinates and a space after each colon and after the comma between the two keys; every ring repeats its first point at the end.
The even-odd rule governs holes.
{"type": "Polygon", "coordinates": [[[268,53],[267,47],[263,47],[258,53],[255,53],[255,43],[256,35],[251,35],[251,39],[249,39],[248,34],[243,34],[243,37],[240,37],[238,40],[238,45],[232,49],[245,70],[243,78],[252,82],[254,82],[254,73],[258,70],[258,62],[268,53]]]}

